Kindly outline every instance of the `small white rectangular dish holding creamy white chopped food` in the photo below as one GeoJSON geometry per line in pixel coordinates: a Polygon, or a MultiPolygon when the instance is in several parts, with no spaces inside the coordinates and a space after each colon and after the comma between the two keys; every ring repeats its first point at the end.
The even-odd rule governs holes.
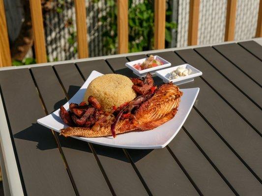
{"type": "Polygon", "coordinates": [[[202,74],[203,73],[201,71],[199,71],[198,69],[194,68],[193,66],[191,66],[189,64],[178,65],[178,66],[175,66],[175,67],[156,71],[156,75],[159,76],[160,78],[162,78],[164,82],[173,82],[175,85],[184,84],[184,83],[187,83],[187,82],[194,81],[194,77],[200,76],[202,74]],[[175,79],[169,79],[169,73],[175,71],[178,67],[190,69],[192,72],[187,76],[180,76],[180,77],[175,78],[175,79]]]}

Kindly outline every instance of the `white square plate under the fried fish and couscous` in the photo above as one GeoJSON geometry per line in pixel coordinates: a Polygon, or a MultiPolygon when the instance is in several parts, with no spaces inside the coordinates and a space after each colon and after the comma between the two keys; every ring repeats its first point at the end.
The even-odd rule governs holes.
{"type": "MultiPolygon", "coordinates": [[[[102,73],[92,71],[92,73],[87,78],[87,81],[79,89],[79,91],[72,97],[67,103],[64,104],[66,110],[69,109],[69,103],[80,103],[83,100],[84,94],[86,92],[89,83],[96,77],[103,75],[102,73]]],[[[85,137],[73,137],[86,142],[110,146],[110,147],[121,147],[121,148],[136,148],[136,149],[152,149],[152,148],[163,148],[167,146],[171,140],[178,133],[179,129],[185,122],[199,92],[199,88],[192,89],[181,89],[183,96],[178,107],[177,114],[175,118],[161,126],[141,132],[129,132],[117,135],[114,139],[110,137],[100,137],[100,138],[85,138],[85,137]]],[[[62,128],[67,127],[65,123],[59,117],[59,109],[52,114],[38,119],[37,123],[42,124],[50,129],[57,132],[62,128]]]]}

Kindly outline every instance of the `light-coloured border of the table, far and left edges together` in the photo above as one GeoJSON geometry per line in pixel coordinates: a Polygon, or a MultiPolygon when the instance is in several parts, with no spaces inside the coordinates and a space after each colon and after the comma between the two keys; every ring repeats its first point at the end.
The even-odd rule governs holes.
{"type": "MultiPolygon", "coordinates": [[[[258,44],[262,45],[262,38],[253,38],[253,39],[248,39],[248,40],[235,40],[235,41],[229,41],[229,42],[222,42],[218,44],[206,44],[206,45],[187,46],[187,47],[182,47],[182,48],[148,50],[148,51],[141,51],[141,52],[125,53],[125,54],[115,54],[115,55],[108,55],[108,56],[98,56],[98,57],[73,59],[73,60],[58,61],[58,62],[32,64],[32,65],[27,65],[27,66],[9,66],[9,67],[0,68],[0,71],[24,69],[24,68],[31,68],[31,67],[53,66],[53,65],[77,63],[77,62],[93,61],[93,60],[101,60],[101,59],[104,60],[104,59],[109,59],[109,58],[126,57],[126,56],[133,56],[133,55],[139,55],[139,54],[145,54],[145,53],[175,51],[175,50],[182,50],[182,49],[194,49],[194,48],[201,48],[201,47],[214,46],[214,45],[238,43],[238,42],[244,42],[244,41],[255,41],[258,44]]],[[[12,145],[12,141],[11,141],[10,134],[9,134],[7,119],[6,119],[5,112],[4,112],[3,102],[1,99],[1,93],[0,93],[0,143],[1,143],[1,150],[3,154],[3,161],[4,161],[5,168],[6,168],[5,172],[7,174],[10,194],[11,196],[24,196],[23,187],[21,184],[21,179],[20,179],[20,175],[18,171],[18,166],[16,164],[16,158],[15,158],[15,154],[13,150],[13,145],[12,145]]]]}

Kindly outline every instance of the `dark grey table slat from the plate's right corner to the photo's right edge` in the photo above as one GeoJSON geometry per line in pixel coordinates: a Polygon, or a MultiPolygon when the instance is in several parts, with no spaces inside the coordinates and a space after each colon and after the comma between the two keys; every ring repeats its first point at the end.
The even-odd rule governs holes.
{"type": "Polygon", "coordinates": [[[201,78],[180,85],[180,88],[195,87],[200,88],[195,107],[261,179],[262,138],[201,78]]]}

